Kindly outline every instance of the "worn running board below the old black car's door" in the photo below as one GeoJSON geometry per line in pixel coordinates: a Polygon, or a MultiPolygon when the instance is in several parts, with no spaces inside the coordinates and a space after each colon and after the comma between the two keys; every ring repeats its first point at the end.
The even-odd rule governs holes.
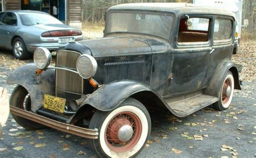
{"type": "Polygon", "coordinates": [[[209,106],[218,101],[217,97],[205,95],[201,91],[180,97],[164,99],[168,106],[173,109],[174,114],[179,117],[190,115],[201,108],[209,106]]]}

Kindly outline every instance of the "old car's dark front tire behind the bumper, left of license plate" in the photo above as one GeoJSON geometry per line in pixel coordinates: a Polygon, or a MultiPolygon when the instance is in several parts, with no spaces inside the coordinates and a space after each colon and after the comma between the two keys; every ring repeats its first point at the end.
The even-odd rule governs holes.
{"type": "MultiPolygon", "coordinates": [[[[11,94],[10,105],[24,109],[25,111],[31,111],[31,100],[28,91],[26,91],[24,87],[18,85],[11,94]]],[[[36,130],[45,127],[39,123],[24,119],[14,114],[12,114],[12,117],[19,125],[27,130],[36,130]]]]}

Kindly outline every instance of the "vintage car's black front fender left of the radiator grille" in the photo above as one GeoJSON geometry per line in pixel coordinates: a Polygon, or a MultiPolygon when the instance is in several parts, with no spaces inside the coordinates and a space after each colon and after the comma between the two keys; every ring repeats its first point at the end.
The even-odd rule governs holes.
{"type": "Polygon", "coordinates": [[[46,70],[36,74],[35,64],[26,64],[16,68],[8,79],[7,84],[23,86],[30,95],[31,110],[36,112],[43,106],[44,94],[55,95],[55,70],[46,70]]]}

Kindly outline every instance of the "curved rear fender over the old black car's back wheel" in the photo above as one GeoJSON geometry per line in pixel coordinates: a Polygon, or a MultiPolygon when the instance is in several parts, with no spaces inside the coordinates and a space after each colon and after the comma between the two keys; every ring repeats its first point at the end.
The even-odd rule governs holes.
{"type": "Polygon", "coordinates": [[[215,71],[210,83],[208,84],[207,88],[204,90],[204,93],[207,95],[211,95],[213,97],[220,97],[219,90],[221,88],[221,80],[227,71],[231,71],[234,77],[234,88],[236,90],[241,90],[241,86],[239,83],[239,75],[237,66],[231,60],[223,60],[217,70],[215,71]]]}

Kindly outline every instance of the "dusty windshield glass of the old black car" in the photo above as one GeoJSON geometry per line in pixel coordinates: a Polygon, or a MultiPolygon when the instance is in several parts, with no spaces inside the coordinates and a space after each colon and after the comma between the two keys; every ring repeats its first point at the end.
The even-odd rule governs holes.
{"type": "Polygon", "coordinates": [[[112,12],[106,33],[143,33],[169,39],[172,16],[151,13],[112,12]]]}

